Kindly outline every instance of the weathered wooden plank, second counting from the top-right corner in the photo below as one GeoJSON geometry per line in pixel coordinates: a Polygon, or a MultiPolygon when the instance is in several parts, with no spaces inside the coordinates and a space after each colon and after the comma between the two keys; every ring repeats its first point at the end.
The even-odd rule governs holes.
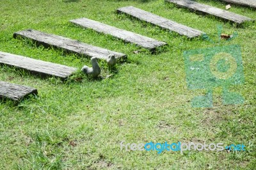
{"type": "Polygon", "coordinates": [[[196,3],[190,0],[165,0],[169,3],[177,4],[177,6],[188,8],[189,10],[195,10],[196,12],[214,15],[224,20],[229,20],[237,24],[242,24],[245,21],[250,21],[252,19],[239,15],[237,13],[228,12],[226,10],[221,10],[220,8],[215,8],[206,4],[196,3]]]}

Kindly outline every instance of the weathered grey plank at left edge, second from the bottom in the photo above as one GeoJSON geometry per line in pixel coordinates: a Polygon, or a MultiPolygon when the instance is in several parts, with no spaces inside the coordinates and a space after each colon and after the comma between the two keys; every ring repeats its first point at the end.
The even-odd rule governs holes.
{"type": "Polygon", "coordinates": [[[33,73],[51,75],[60,77],[61,79],[67,79],[68,76],[77,70],[77,68],[74,67],[27,58],[6,52],[0,52],[0,64],[17,66],[33,73]]]}

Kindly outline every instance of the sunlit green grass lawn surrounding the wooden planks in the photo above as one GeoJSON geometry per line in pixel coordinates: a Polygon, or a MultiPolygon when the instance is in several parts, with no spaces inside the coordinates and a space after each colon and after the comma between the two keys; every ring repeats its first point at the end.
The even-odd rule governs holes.
{"type": "MultiPolygon", "coordinates": [[[[225,9],[219,1],[200,2],[225,9]]],[[[234,6],[236,12],[256,19],[256,10],[234,6]]],[[[118,72],[109,72],[100,61],[102,75],[89,79],[77,72],[65,82],[41,79],[17,68],[0,66],[0,81],[31,86],[38,96],[13,105],[0,102],[0,169],[255,169],[256,127],[256,24],[234,24],[191,13],[163,0],[6,0],[0,3],[0,50],[21,56],[81,68],[90,60],[61,50],[36,47],[12,35],[36,29],[65,36],[127,54],[118,72]],[[213,44],[189,40],[147,23],[116,14],[124,6],[135,6],[204,31],[218,40],[223,33],[237,31],[232,41],[213,44]],[[86,17],[168,43],[151,54],[122,40],[70,24],[86,17]],[[187,88],[184,50],[241,45],[243,85],[232,86],[245,98],[243,105],[222,105],[221,88],[214,89],[214,107],[193,108],[191,100],[205,90],[187,88]],[[139,54],[133,51],[140,50],[139,54]],[[83,79],[80,79],[80,78],[83,79]],[[79,79],[77,79],[79,78],[79,79]],[[81,81],[80,81],[81,80],[81,81]],[[224,143],[241,144],[246,151],[125,151],[125,143],[224,143]]]]}

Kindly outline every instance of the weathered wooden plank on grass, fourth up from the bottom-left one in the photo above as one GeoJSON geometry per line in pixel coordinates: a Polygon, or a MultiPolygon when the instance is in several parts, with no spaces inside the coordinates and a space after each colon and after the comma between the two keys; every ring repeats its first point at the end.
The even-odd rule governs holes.
{"type": "Polygon", "coordinates": [[[157,47],[161,47],[166,45],[165,42],[159,42],[153,38],[148,38],[147,36],[138,35],[136,33],[132,33],[130,31],[126,31],[124,29],[119,29],[117,27],[109,26],[106,24],[102,24],[101,22],[97,22],[95,20],[90,20],[86,18],[70,20],[70,22],[77,24],[78,26],[93,29],[99,33],[104,33],[107,35],[114,36],[125,42],[135,43],[141,47],[146,49],[154,50],[157,47]]]}

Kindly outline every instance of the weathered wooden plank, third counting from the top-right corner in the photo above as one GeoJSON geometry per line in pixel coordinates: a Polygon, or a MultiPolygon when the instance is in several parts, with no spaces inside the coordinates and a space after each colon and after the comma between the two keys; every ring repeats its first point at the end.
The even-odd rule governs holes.
{"type": "Polygon", "coordinates": [[[182,24],[174,22],[173,20],[165,19],[163,17],[160,17],[159,15],[155,15],[153,13],[146,12],[139,8],[135,8],[133,6],[126,6],[123,8],[118,8],[117,12],[125,13],[127,15],[130,15],[131,17],[135,17],[136,19],[143,20],[145,22],[149,22],[150,24],[162,27],[163,29],[168,29],[170,31],[174,31],[176,33],[179,33],[180,35],[188,36],[189,38],[193,38],[193,37],[200,36],[203,34],[202,31],[193,29],[188,26],[184,26],[182,24]]]}

